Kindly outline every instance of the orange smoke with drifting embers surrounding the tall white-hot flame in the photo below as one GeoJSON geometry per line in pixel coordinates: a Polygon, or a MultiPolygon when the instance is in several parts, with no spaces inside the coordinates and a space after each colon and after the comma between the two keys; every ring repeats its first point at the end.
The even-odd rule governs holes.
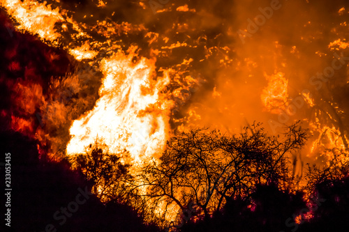
{"type": "MultiPolygon", "coordinates": [[[[61,37],[52,42],[63,50],[39,57],[45,57],[40,60],[46,62],[43,67],[54,67],[45,73],[58,74],[45,77],[44,82],[40,75],[32,75],[31,84],[22,87],[35,89],[36,97],[31,93],[24,96],[27,92],[22,91],[13,105],[25,112],[22,118],[27,124],[35,121],[32,127],[45,125],[40,137],[53,141],[55,152],[68,143],[73,120],[94,107],[103,78],[101,60],[119,49],[127,53],[132,46],[138,47],[135,62],[142,57],[156,61],[155,76],[167,73],[170,77],[162,93],[174,102],[170,115],[174,131],[210,126],[235,133],[258,121],[276,134],[283,124],[300,120],[313,132],[304,153],[313,151],[316,157],[326,143],[329,148],[346,148],[347,1],[52,0],[48,4],[58,8],[64,18],[54,24],[61,37]],[[62,54],[84,45],[89,45],[92,57],[84,59],[83,52],[75,59],[62,54]],[[62,57],[64,68],[59,66],[62,57]],[[328,74],[334,61],[345,63],[334,69],[333,75],[328,74]],[[320,88],[314,84],[319,81],[320,88]],[[15,103],[24,98],[31,98],[24,104],[30,109],[15,103]],[[320,150],[311,150],[314,142],[322,144],[317,145],[320,150]]],[[[7,32],[5,28],[2,31],[7,32]]],[[[29,53],[37,59],[32,52],[25,57],[29,53]]],[[[11,54],[10,48],[6,54],[11,54]]],[[[24,68],[25,63],[6,57],[3,70],[33,73],[24,68]]],[[[16,96],[20,85],[7,87],[10,95],[16,96]]]]}

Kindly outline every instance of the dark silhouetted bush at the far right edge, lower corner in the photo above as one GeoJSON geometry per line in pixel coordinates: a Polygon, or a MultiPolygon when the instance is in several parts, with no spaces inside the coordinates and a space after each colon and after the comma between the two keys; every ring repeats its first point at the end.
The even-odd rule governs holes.
{"type": "Polygon", "coordinates": [[[311,219],[299,231],[348,231],[349,160],[344,148],[325,150],[327,163],[309,165],[306,192],[313,196],[311,219]]]}

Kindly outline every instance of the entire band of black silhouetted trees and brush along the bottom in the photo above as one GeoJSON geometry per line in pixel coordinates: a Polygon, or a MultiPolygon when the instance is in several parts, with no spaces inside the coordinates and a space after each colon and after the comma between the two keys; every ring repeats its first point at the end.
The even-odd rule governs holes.
{"type": "MultiPolygon", "coordinates": [[[[108,155],[98,148],[78,156],[77,169],[72,171],[69,162],[53,162],[44,150],[39,153],[36,141],[20,133],[1,132],[3,153],[10,152],[12,159],[11,230],[349,229],[347,165],[310,167],[306,191],[297,190],[285,152],[302,147],[307,135],[297,125],[288,130],[281,140],[268,137],[260,127],[239,137],[205,130],[179,134],[168,142],[161,162],[149,162],[139,175],[131,175],[130,166],[121,162],[122,155],[108,155]],[[146,193],[138,190],[139,178],[142,186],[148,185],[146,193]],[[98,197],[86,192],[93,192],[96,183],[107,190],[98,197]],[[87,200],[81,203],[83,196],[87,200]],[[171,204],[178,206],[178,217],[171,224],[164,223],[166,212],[154,212],[160,205],[171,204]]],[[[333,150],[337,155],[340,152],[333,150]]]]}

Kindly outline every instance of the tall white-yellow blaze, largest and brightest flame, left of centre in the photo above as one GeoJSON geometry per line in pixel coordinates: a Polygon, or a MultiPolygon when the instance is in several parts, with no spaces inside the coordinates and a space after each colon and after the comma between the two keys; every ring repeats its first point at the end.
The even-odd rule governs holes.
{"type": "Polygon", "coordinates": [[[169,100],[161,93],[168,75],[154,76],[154,61],[133,63],[134,49],[101,61],[104,75],[96,106],[70,127],[68,155],[84,153],[84,147],[102,139],[112,153],[126,149],[133,159],[161,153],[168,138],[169,100]]]}

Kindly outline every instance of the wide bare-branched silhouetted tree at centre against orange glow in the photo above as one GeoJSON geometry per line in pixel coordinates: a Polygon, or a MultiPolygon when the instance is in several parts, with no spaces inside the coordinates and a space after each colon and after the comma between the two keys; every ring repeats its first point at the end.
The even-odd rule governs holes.
{"type": "Polygon", "coordinates": [[[208,218],[227,201],[251,194],[255,185],[290,183],[286,153],[304,146],[307,137],[299,123],[287,127],[283,139],[254,124],[239,136],[205,129],[183,132],[168,141],[160,162],[144,167],[139,187],[148,187],[143,196],[154,211],[163,210],[164,220],[191,202],[208,218]]]}

